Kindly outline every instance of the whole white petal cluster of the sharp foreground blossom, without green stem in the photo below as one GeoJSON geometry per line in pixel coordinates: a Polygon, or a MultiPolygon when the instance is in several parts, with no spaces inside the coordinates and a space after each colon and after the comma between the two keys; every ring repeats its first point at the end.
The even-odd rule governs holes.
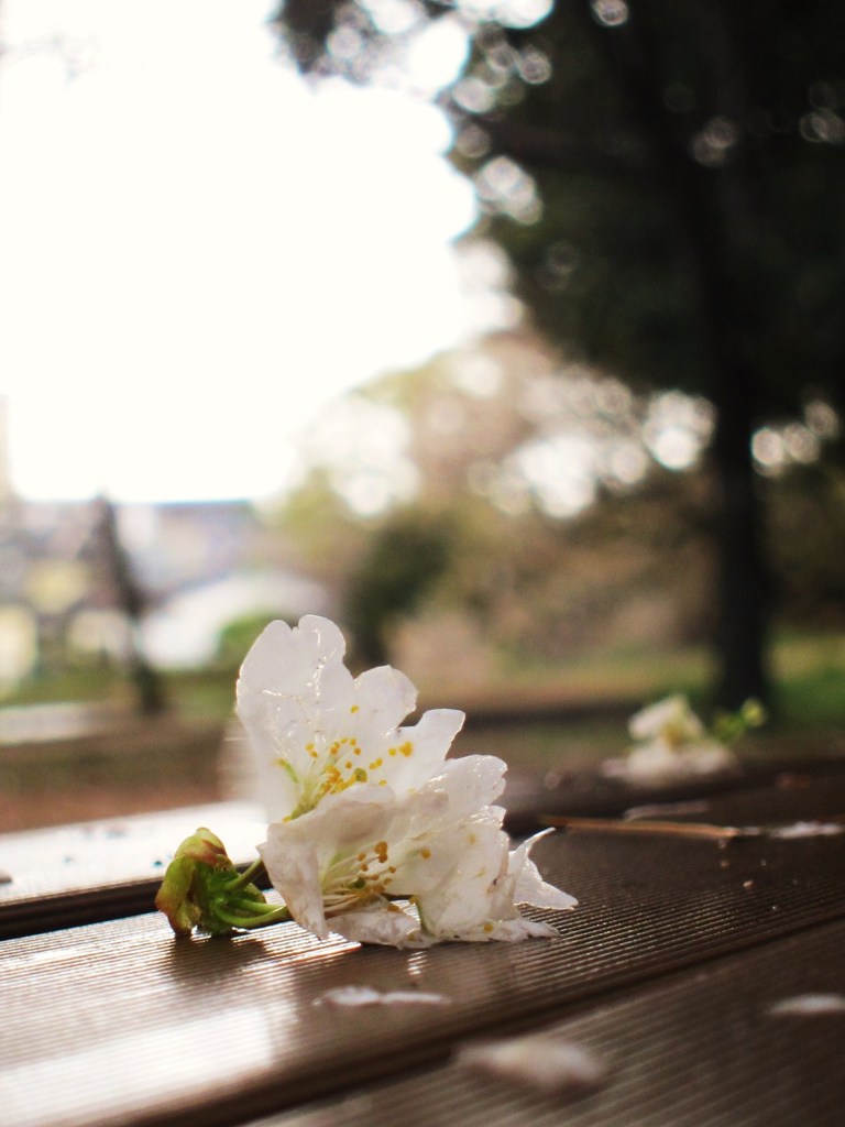
{"type": "Polygon", "coordinates": [[[517,907],[576,902],[542,880],[533,842],[510,850],[493,805],[506,764],[446,761],[463,713],[401,727],[413,685],[389,666],[353,678],[344,651],[327,619],[275,622],[238,683],[270,815],[259,852],[291,917],[320,938],[397,947],[557,934],[517,907]]]}

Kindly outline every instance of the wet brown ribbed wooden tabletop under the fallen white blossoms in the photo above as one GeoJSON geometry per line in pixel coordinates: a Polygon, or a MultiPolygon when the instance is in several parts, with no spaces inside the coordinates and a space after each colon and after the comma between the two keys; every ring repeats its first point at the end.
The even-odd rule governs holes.
{"type": "MultiPolygon", "coordinates": [[[[59,931],[30,917],[29,934],[0,942],[2,1122],[833,1127],[845,1015],[833,1003],[773,1008],[808,994],[845,1006],[845,772],[791,773],[694,804],[648,811],[676,824],[668,834],[588,825],[540,842],[543,875],[580,902],[537,913],[555,940],[397,951],[281,924],[177,942],[154,914],[59,931]],[[685,834],[688,820],[757,832],[701,837],[685,834]],[[345,986],[420,1000],[332,1004],[345,986]],[[601,1081],[550,1092],[536,1076],[462,1063],[468,1046],[515,1038],[518,1048],[537,1033],[546,1039],[528,1042],[530,1057],[553,1064],[554,1044],[572,1044],[601,1063],[601,1081]]],[[[186,833],[197,813],[183,815],[186,833]]],[[[222,818],[248,813],[202,820],[221,832],[222,818]]],[[[149,884],[141,870],[164,860],[162,825],[137,827],[136,852],[131,820],[123,836],[78,829],[92,864],[113,843],[113,868],[61,895],[91,911],[98,896],[108,905],[109,887],[149,884]]],[[[23,872],[12,844],[0,867],[23,872]]],[[[6,888],[0,925],[5,912],[20,925],[21,898],[6,888]]]]}

